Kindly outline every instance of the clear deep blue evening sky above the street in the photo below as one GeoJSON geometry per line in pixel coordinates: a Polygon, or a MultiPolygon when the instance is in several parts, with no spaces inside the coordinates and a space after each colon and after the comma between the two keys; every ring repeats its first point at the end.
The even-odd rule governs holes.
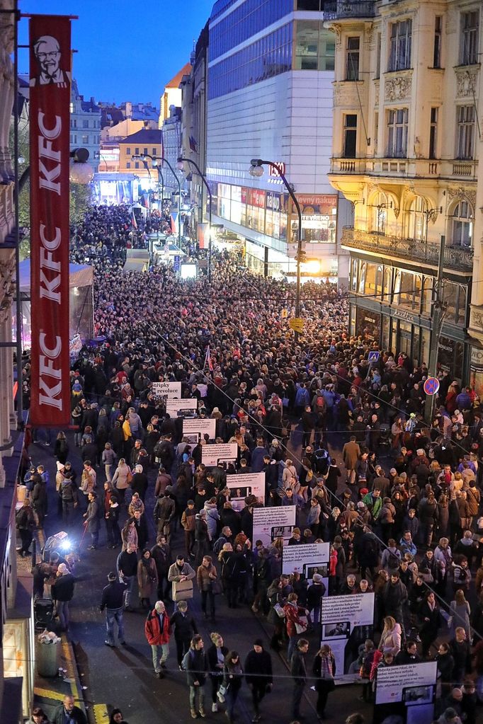
{"type": "MultiPolygon", "coordinates": [[[[20,0],[25,13],[78,15],[72,20],[73,75],[96,101],[146,102],[159,107],[164,84],[189,62],[214,0],[20,0]]],[[[28,20],[19,43],[28,43],[28,20]]],[[[27,51],[19,71],[28,72],[27,51]]]]}

